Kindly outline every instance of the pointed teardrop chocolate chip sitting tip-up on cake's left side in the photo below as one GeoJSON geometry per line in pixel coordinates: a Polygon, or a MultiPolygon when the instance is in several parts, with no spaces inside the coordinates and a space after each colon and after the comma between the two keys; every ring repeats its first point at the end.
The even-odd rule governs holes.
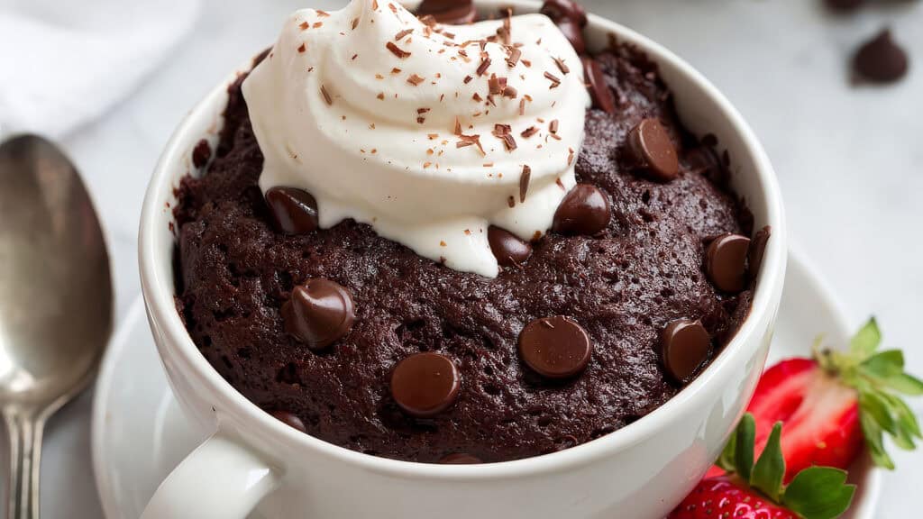
{"type": "Polygon", "coordinates": [[[282,305],[285,331],[312,350],[326,348],[353,327],[353,296],[341,284],[312,278],[295,286],[282,305]]]}

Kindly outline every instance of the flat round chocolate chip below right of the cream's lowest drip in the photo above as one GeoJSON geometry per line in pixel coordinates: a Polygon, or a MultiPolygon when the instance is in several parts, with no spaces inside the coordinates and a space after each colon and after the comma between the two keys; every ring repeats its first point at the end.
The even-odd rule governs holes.
{"type": "Polygon", "coordinates": [[[590,362],[593,344],[573,320],[564,316],[533,320],[519,337],[522,361],[548,379],[568,379],[590,362]]]}

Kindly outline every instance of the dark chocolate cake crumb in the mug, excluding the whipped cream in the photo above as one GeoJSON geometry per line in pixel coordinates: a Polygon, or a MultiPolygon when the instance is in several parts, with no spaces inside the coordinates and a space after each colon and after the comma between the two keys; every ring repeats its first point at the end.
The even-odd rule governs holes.
{"type": "Polygon", "coordinates": [[[547,235],[519,242],[531,256],[510,252],[495,279],[452,271],[352,220],[280,232],[258,187],[263,157],[243,78],[231,85],[214,158],[202,175],[184,179],[175,209],[177,306],[202,355],[293,427],[419,462],[551,453],[664,404],[749,312],[749,282],[711,272],[734,271],[737,261],[742,278],[745,259],[737,257],[747,244],[737,256],[730,242],[709,250],[716,236],[749,236],[749,213],[726,189],[713,143],[683,128],[643,54],[613,43],[585,63],[594,107],[577,181],[601,192],[604,226],[587,235],[581,222],[558,218],[547,235]],[[678,173],[661,175],[663,157],[649,150],[658,135],[639,128],[645,120],[665,128],[678,173]],[[354,320],[342,336],[308,347],[282,308],[299,285],[318,279],[347,291],[354,320]],[[696,321],[699,334],[688,333],[696,321]],[[580,349],[573,369],[556,372],[530,359],[529,341],[543,328],[535,322],[558,334],[549,340],[580,349]],[[671,346],[701,358],[683,366],[671,346]],[[440,354],[419,358],[424,368],[450,359],[454,380],[442,388],[445,405],[414,411],[413,395],[402,396],[409,390],[399,385],[419,366],[395,367],[421,352],[440,354]]]}

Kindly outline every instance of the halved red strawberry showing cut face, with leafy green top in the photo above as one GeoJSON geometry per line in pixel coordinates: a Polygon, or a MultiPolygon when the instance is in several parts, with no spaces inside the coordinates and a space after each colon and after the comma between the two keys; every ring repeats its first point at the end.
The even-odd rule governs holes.
{"type": "MultiPolygon", "coordinates": [[[[899,394],[923,394],[923,381],[904,372],[899,350],[879,351],[874,319],[852,338],[849,349],[814,345],[813,358],[790,358],[767,369],[747,408],[756,417],[755,453],[761,453],[772,425],[782,422],[785,482],[813,465],[847,468],[863,444],[876,465],[893,468],[882,436],[903,449],[920,436],[917,418],[899,394]]],[[[708,476],[720,474],[717,468],[708,476]]]]}

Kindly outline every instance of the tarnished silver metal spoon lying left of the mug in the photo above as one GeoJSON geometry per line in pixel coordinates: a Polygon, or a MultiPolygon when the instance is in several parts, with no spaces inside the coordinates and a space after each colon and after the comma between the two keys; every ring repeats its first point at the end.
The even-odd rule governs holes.
{"type": "Polygon", "coordinates": [[[39,517],[45,421],[93,379],[112,329],[109,256],[74,165],[53,143],[0,144],[0,415],[8,519],[39,517]]]}

